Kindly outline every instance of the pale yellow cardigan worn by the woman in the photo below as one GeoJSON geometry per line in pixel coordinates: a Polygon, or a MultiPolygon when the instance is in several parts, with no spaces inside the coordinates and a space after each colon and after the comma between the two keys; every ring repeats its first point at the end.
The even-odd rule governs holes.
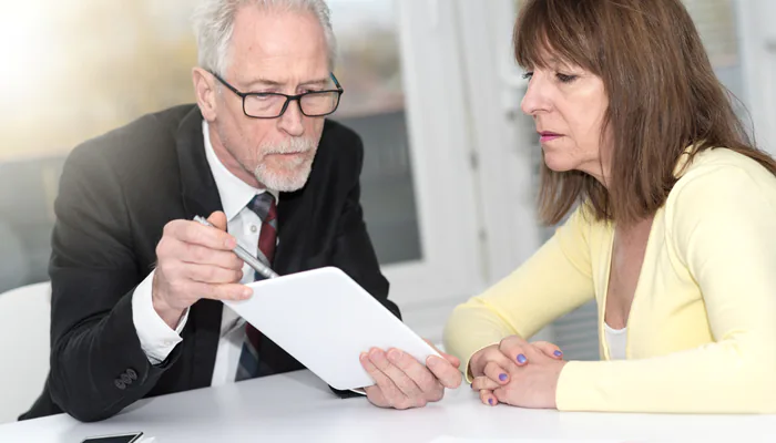
{"type": "MultiPolygon", "coordinates": [[[[686,166],[650,231],[626,360],[610,360],[599,340],[602,361],[568,362],[559,410],[776,413],[776,177],[724,148],[686,166]]],[[[576,209],[522,266],[457,307],[445,346],[464,373],[478,350],[531,337],[593,297],[604,337],[613,234],[576,209]]]]}

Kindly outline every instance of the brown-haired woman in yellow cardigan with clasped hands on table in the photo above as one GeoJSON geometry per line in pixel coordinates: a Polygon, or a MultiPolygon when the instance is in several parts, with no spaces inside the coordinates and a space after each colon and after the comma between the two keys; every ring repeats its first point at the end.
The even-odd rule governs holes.
{"type": "Polygon", "coordinates": [[[776,412],[776,163],[680,0],[529,0],[514,45],[541,214],[570,216],[446,326],[482,402],[776,412]],[[602,361],[523,339],[593,298],[602,361]]]}

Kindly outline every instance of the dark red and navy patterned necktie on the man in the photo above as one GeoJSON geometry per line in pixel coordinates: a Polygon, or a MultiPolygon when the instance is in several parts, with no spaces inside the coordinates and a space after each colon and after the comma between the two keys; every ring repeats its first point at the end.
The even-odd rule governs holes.
{"type": "MultiPolygon", "coordinates": [[[[275,206],[275,197],[267,192],[258,194],[248,203],[247,207],[262,219],[262,231],[258,235],[259,260],[265,261],[262,258],[262,255],[264,255],[264,258],[266,258],[265,265],[272,267],[275,257],[275,245],[277,243],[277,208],[275,206]]],[[[254,276],[256,280],[264,278],[258,272],[254,272],[254,276]]],[[[258,377],[261,339],[262,333],[251,326],[251,323],[246,322],[245,341],[243,342],[243,350],[239,354],[239,364],[237,365],[235,380],[239,381],[258,377]]]]}

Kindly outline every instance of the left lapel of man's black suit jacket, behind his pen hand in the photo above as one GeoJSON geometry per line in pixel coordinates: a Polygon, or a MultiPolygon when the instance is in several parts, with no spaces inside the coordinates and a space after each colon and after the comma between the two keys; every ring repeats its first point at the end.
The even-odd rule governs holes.
{"type": "MultiPolygon", "coordinates": [[[[184,117],[175,136],[178,165],[181,171],[181,189],[187,219],[195,215],[208,217],[216,210],[223,210],[218,188],[215,185],[202,134],[202,114],[194,109],[184,117]]],[[[216,300],[200,300],[190,311],[194,352],[188,362],[191,385],[202,388],[211,385],[213,368],[221,333],[221,317],[224,305],[216,300]]]]}

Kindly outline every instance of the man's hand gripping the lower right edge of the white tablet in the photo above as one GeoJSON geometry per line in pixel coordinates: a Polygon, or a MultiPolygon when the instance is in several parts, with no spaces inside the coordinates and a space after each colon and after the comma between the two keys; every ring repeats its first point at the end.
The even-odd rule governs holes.
{"type": "Polygon", "coordinates": [[[366,388],[369,401],[380,408],[396,409],[422,408],[428,402],[440,401],[445,388],[456,389],[461,384],[458,370],[461,362],[437,351],[443,359],[429,357],[426,367],[398,349],[388,352],[371,349],[363,353],[361,365],[376,383],[366,388]]]}

